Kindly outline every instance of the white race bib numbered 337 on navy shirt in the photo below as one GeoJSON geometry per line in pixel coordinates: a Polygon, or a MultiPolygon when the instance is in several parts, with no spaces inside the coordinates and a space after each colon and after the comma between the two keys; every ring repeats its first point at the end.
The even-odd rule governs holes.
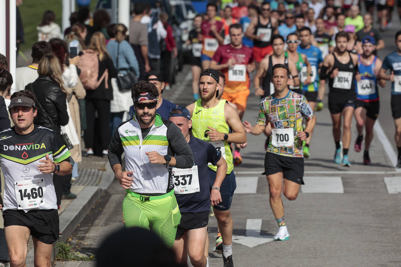
{"type": "Polygon", "coordinates": [[[188,169],[173,168],[174,194],[191,194],[199,192],[198,166],[188,169]]]}

